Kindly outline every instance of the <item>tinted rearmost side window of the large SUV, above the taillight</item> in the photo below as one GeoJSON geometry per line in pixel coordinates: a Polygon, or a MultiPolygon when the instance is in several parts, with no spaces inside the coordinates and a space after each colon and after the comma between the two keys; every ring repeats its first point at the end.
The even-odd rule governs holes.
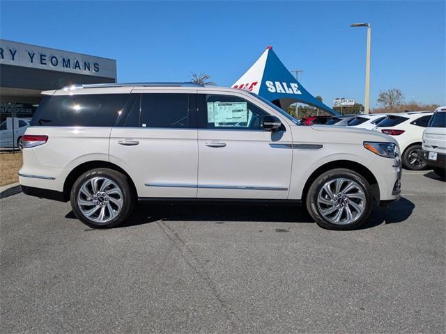
{"type": "Polygon", "coordinates": [[[44,97],[33,126],[112,127],[130,94],[56,95],[44,97]]]}

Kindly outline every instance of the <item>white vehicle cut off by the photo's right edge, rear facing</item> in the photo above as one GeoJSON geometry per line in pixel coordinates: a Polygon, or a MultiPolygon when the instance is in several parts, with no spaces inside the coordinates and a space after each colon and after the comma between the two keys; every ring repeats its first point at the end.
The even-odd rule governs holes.
{"type": "Polygon", "coordinates": [[[423,132],[422,160],[443,179],[446,178],[446,106],[436,109],[423,132]]]}

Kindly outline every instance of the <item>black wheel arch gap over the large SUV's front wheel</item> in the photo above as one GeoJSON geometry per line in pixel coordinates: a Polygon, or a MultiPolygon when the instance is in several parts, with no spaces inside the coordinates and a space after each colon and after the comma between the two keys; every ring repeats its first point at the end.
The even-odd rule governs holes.
{"type": "Polygon", "coordinates": [[[302,190],[302,202],[305,202],[305,200],[307,198],[307,193],[308,193],[309,187],[312,186],[314,180],[316,180],[316,178],[319,175],[327,172],[328,170],[332,170],[335,168],[350,169],[350,170],[353,170],[354,172],[362,175],[362,177],[364,177],[365,180],[367,180],[367,182],[369,182],[369,184],[371,186],[374,200],[376,200],[376,202],[379,202],[380,191],[379,191],[378,180],[376,180],[375,175],[373,173],[371,173],[371,170],[369,170],[369,168],[367,168],[366,166],[364,166],[358,162],[351,161],[351,160],[330,161],[330,162],[323,164],[323,165],[319,166],[318,168],[316,168],[316,170],[314,170],[312,175],[310,175],[308,177],[307,182],[305,182],[305,186],[302,190]]]}

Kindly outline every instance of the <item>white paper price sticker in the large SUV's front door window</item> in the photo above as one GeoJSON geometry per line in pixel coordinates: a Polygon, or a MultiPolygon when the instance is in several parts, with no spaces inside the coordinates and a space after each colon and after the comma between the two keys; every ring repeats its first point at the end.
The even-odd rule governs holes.
{"type": "Polygon", "coordinates": [[[239,123],[248,121],[247,102],[208,102],[208,122],[239,123]]]}

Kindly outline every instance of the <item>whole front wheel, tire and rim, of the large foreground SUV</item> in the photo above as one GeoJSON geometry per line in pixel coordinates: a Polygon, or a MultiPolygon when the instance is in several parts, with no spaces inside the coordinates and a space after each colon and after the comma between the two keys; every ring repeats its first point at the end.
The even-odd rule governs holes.
{"type": "Polygon", "coordinates": [[[367,221],[373,196],[367,180],[353,170],[328,170],[307,193],[307,209],[321,228],[351,230],[367,221]]]}

